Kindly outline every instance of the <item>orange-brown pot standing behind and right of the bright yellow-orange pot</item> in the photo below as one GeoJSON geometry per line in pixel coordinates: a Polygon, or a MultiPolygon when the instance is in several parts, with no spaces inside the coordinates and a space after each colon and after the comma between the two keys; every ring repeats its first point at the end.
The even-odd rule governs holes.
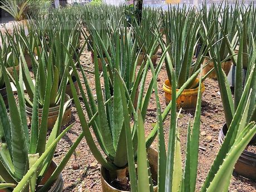
{"type": "MultiPolygon", "coordinates": [[[[203,64],[205,65],[205,63],[208,62],[208,61],[209,61],[209,59],[208,59],[208,58],[205,58],[203,64]]],[[[232,61],[226,61],[226,62],[221,63],[221,68],[224,70],[224,72],[226,73],[226,75],[228,75],[228,73],[229,73],[229,71],[230,71],[231,64],[232,64],[232,61]]],[[[208,63],[208,65],[203,68],[203,76],[206,75],[212,68],[214,68],[214,63],[210,61],[210,62],[208,63]]],[[[217,74],[216,74],[215,70],[212,71],[212,72],[209,74],[208,77],[209,77],[209,78],[213,78],[213,79],[216,80],[216,79],[217,79],[217,74]]]]}

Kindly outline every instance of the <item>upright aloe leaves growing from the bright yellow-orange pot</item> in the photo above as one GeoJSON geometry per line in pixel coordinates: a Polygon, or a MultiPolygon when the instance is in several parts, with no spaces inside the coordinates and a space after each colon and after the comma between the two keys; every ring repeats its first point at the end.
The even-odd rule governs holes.
{"type": "MultiPolygon", "coordinates": [[[[196,13],[193,7],[187,8],[185,4],[180,7],[169,7],[165,13],[164,24],[166,34],[166,45],[170,45],[170,61],[175,68],[176,87],[180,88],[184,83],[199,70],[204,61],[204,55],[209,51],[208,39],[202,42],[198,58],[195,61],[195,48],[199,42],[199,31],[201,29],[201,13],[196,13]]],[[[210,33],[206,33],[210,37],[210,33]]],[[[209,41],[212,41],[211,38],[209,41]]],[[[162,48],[163,49],[163,48],[162,48]]],[[[168,62],[168,61],[166,61],[168,62]]],[[[208,63],[206,63],[208,64],[208,63]]],[[[166,65],[169,82],[171,83],[171,71],[166,65]]],[[[206,74],[203,78],[208,76],[206,74]]],[[[195,81],[196,77],[194,78],[195,81]]],[[[195,88],[193,82],[186,88],[195,88]],[[191,87],[192,86],[192,87],[191,87]]],[[[198,85],[194,85],[198,87],[198,85]]]]}

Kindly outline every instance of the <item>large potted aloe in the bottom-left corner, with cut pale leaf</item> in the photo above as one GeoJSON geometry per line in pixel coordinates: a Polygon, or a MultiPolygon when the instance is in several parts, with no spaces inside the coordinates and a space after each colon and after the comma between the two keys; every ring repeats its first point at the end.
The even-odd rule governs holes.
{"type": "MultiPolygon", "coordinates": [[[[1,67],[4,68],[2,58],[0,58],[1,67]]],[[[39,71],[38,71],[39,72],[39,71]]],[[[6,70],[3,70],[4,80],[6,81],[6,90],[8,95],[9,112],[4,105],[2,96],[0,96],[1,124],[0,124],[0,191],[38,191],[47,183],[52,173],[56,170],[58,174],[51,177],[51,185],[48,185],[45,191],[62,191],[63,179],[61,170],[63,166],[57,166],[53,161],[53,154],[57,142],[72,127],[61,132],[61,120],[63,111],[68,106],[65,104],[65,97],[62,95],[60,111],[50,136],[47,136],[47,119],[50,104],[50,89],[46,91],[45,105],[41,123],[38,118],[38,101],[40,99],[39,78],[36,78],[34,104],[32,111],[31,127],[28,129],[27,117],[25,111],[25,100],[23,91],[22,72],[14,72],[16,88],[18,94],[18,105],[14,98],[11,83],[9,82],[6,70]],[[48,104],[48,105],[47,105],[48,104]],[[48,138],[48,139],[47,139],[48,138]],[[28,176],[29,175],[29,176],[28,176]],[[47,176],[48,175],[48,176],[47,176]]],[[[50,81],[47,81],[47,87],[50,87],[50,81]]],[[[65,92],[65,90],[62,90],[65,92]]],[[[71,102],[71,100],[68,100],[71,102]]],[[[65,163],[68,160],[66,156],[65,163]]]]}

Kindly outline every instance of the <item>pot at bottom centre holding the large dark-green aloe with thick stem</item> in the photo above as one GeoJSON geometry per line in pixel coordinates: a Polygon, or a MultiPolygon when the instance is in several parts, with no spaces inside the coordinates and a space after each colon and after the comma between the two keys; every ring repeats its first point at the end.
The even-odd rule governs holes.
{"type": "MultiPolygon", "coordinates": [[[[149,160],[150,172],[152,180],[157,181],[157,151],[147,149],[147,159],[149,160]]],[[[101,166],[101,186],[102,192],[127,192],[116,189],[110,183],[116,179],[116,170],[107,170],[101,166]]],[[[154,192],[157,192],[157,186],[154,186],[154,192]]]]}

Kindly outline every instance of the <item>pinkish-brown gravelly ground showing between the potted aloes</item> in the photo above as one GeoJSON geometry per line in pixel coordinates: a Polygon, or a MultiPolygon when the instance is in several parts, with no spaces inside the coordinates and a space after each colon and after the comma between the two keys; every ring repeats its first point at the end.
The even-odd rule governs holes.
{"type": "MultiPolygon", "coordinates": [[[[160,57],[161,52],[157,53],[160,57]]],[[[86,71],[94,71],[94,64],[91,62],[91,53],[85,50],[81,56],[82,66],[86,71]]],[[[159,61],[159,58],[158,58],[159,61]]],[[[94,77],[91,73],[86,72],[88,80],[92,87],[92,91],[95,92],[94,77]]],[[[160,104],[162,111],[165,109],[165,96],[163,91],[163,83],[167,79],[165,67],[161,69],[160,75],[157,79],[160,104]]],[[[151,74],[147,75],[147,85],[151,80],[151,74]]],[[[201,107],[201,126],[200,126],[200,149],[199,149],[199,164],[198,164],[198,179],[196,181],[196,191],[199,191],[201,185],[208,174],[208,171],[213,164],[215,156],[219,150],[218,135],[219,130],[225,123],[225,117],[223,112],[223,106],[221,103],[220,91],[218,82],[211,79],[206,79],[205,92],[202,98],[201,107]]],[[[145,88],[146,90],[146,88],[145,88]]],[[[86,113],[85,113],[86,114],[86,113]]],[[[179,118],[179,132],[181,139],[181,147],[183,152],[183,159],[185,156],[185,145],[186,145],[186,133],[189,120],[193,121],[194,111],[186,112],[182,111],[179,118]]],[[[82,129],[80,120],[78,119],[75,107],[72,109],[72,122],[75,125],[70,131],[61,139],[57,146],[54,160],[56,163],[60,163],[67,150],[70,149],[72,143],[81,134],[82,129]]],[[[150,133],[152,127],[156,122],[156,105],[154,100],[154,93],[152,93],[151,101],[147,110],[147,117],[145,121],[146,135],[150,133]]],[[[166,119],[164,122],[165,140],[168,141],[170,127],[170,119],[166,119]]],[[[167,142],[166,142],[167,145],[167,142]]],[[[152,144],[152,147],[156,149],[157,142],[152,144]]],[[[255,149],[255,147],[254,147],[255,149]]],[[[255,151],[254,151],[255,152],[255,151]]],[[[90,191],[99,192],[101,191],[101,180],[100,180],[100,164],[97,163],[93,157],[86,140],[83,139],[78,145],[75,153],[72,155],[66,168],[62,171],[63,179],[65,181],[64,191],[90,191]]],[[[240,191],[240,192],[253,192],[256,191],[256,183],[242,176],[235,175],[232,177],[229,191],[240,191]]],[[[218,192],[218,191],[216,191],[218,192]]]]}

